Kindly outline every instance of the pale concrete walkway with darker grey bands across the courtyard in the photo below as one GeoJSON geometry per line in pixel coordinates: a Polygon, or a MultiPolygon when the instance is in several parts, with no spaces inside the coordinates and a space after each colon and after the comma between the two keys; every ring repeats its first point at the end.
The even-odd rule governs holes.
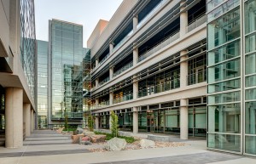
{"type": "MultiPolygon", "coordinates": [[[[140,134],[137,134],[140,135],[140,134]]],[[[196,163],[255,164],[256,158],[207,150],[205,140],[188,140],[186,146],[90,153],[89,146],[71,144],[54,131],[35,131],[20,149],[0,148],[0,164],[73,163],[196,163]]]]}

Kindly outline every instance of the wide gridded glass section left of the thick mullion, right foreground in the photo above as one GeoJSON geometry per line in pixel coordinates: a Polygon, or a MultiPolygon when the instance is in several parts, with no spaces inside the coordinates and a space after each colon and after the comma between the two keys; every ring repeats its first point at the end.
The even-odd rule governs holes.
{"type": "MultiPolygon", "coordinates": [[[[208,9],[214,2],[207,4],[208,9]]],[[[207,147],[241,152],[239,1],[227,1],[208,12],[207,147]]]]}

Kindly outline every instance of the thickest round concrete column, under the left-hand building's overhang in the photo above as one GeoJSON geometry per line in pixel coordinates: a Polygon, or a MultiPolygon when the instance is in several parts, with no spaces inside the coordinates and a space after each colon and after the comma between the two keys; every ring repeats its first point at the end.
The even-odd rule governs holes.
{"type": "Polygon", "coordinates": [[[5,89],[5,147],[23,146],[23,90],[5,89]]]}

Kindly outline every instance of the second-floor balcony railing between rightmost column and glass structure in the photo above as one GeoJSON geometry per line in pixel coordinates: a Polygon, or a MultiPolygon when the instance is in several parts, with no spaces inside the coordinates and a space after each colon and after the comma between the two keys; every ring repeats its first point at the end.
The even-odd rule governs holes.
{"type": "Polygon", "coordinates": [[[188,85],[193,85],[200,82],[207,82],[207,71],[198,71],[187,76],[188,85]]]}

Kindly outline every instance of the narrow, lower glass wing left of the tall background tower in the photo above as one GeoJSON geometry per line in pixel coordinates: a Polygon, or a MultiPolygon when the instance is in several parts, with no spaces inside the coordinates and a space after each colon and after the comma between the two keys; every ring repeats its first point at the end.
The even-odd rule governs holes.
{"type": "Polygon", "coordinates": [[[38,128],[48,128],[48,42],[38,41],[38,128]]]}

